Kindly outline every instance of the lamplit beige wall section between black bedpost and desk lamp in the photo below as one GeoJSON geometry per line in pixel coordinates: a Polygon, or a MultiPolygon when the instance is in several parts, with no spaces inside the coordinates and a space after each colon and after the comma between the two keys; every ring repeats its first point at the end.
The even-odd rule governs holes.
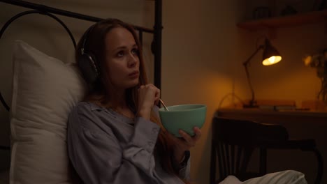
{"type": "MultiPolygon", "coordinates": [[[[203,135],[191,149],[194,183],[209,183],[212,114],[224,95],[243,95],[247,38],[236,27],[242,13],[238,1],[163,3],[162,98],[167,105],[208,105],[203,135]]],[[[226,98],[224,104],[231,100],[226,98]]]]}

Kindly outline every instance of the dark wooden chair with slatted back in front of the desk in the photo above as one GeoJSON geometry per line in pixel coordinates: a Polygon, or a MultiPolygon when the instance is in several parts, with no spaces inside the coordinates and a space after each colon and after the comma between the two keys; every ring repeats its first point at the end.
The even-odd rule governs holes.
{"type": "Polygon", "coordinates": [[[210,183],[219,183],[228,175],[245,181],[267,174],[268,149],[299,149],[314,152],[318,160],[315,183],[321,183],[323,159],[314,139],[289,140],[288,132],[282,125],[218,117],[212,119],[210,183]],[[259,171],[253,173],[247,171],[247,165],[255,148],[259,149],[259,171]]]}

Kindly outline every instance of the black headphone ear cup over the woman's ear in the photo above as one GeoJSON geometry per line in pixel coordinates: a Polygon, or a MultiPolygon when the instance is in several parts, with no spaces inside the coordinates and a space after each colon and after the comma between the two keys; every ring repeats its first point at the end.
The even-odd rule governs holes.
{"type": "Polygon", "coordinates": [[[88,84],[93,85],[99,78],[98,69],[96,68],[96,61],[92,54],[84,53],[80,58],[79,67],[82,71],[82,75],[88,84]]]}

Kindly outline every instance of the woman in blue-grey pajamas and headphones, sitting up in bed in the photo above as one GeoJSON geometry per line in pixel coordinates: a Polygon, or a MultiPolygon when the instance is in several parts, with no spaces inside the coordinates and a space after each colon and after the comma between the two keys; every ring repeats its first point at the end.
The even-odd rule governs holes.
{"type": "Polygon", "coordinates": [[[129,24],[91,26],[76,49],[90,91],[68,122],[68,155],[84,183],[187,183],[189,148],[201,137],[163,130],[160,91],[147,84],[142,47],[129,24]]]}

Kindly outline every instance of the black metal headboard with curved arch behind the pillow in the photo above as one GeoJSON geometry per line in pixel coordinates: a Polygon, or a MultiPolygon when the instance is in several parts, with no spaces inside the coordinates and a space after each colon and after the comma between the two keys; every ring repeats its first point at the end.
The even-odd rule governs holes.
{"type": "MultiPolygon", "coordinates": [[[[161,20],[161,6],[162,6],[162,1],[161,0],[154,0],[154,29],[148,29],[142,26],[136,26],[133,25],[134,29],[138,31],[138,36],[140,38],[140,42],[142,43],[143,40],[143,32],[145,33],[152,33],[153,34],[153,40],[152,40],[152,45],[151,45],[151,51],[152,54],[154,54],[154,85],[157,86],[159,89],[161,89],[161,30],[162,30],[162,20],[161,20]]],[[[37,3],[29,3],[27,1],[21,1],[21,0],[0,0],[0,2],[3,3],[10,3],[15,6],[22,6],[24,8],[30,8],[33,10],[27,10],[22,13],[18,13],[17,15],[13,16],[6,22],[6,24],[3,25],[0,31],[0,39],[1,36],[3,35],[4,31],[8,28],[8,26],[17,18],[22,17],[24,15],[29,15],[32,13],[38,13],[41,15],[47,15],[52,17],[54,20],[57,20],[62,26],[64,26],[64,29],[66,29],[67,33],[69,34],[74,47],[76,47],[75,39],[73,37],[73,34],[71,31],[68,29],[66,24],[62,22],[58,17],[52,15],[52,14],[57,14],[57,15],[63,15],[66,17],[73,17],[79,20],[87,20],[91,22],[99,22],[103,19],[99,17],[92,17],[89,15],[83,15],[80,13],[73,13],[71,11],[66,11],[66,10],[60,10],[57,8],[52,8],[49,6],[44,6],[41,4],[37,3]]],[[[3,96],[1,95],[0,92],[0,101],[7,109],[7,111],[10,110],[10,107],[6,104],[6,101],[3,99],[3,96]]]]}

